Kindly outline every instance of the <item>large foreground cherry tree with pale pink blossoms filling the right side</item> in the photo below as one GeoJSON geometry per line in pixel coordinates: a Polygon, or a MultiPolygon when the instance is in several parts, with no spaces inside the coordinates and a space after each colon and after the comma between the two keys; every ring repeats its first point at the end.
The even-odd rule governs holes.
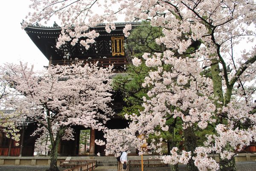
{"type": "MultiPolygon", "coordinates": [[[[149,134],[158,134],[154,128],[168,130],[166,114],[183,120],[184,139],[191,147],[180,153],[173,148],[171,155],[163,157],[166,163],[189,164],[189,170],[236,170],[234,155],[255,145],[255,103],[251,101],[256,80],[254,0],[33,0],[31,8],[35,11],[23,27],[47,22],[52,15],[62,21],[57,47],[69,42],[90,48],[99,33],[89,27],[105,22],[110,32],[119,14],[125,21],[148,20],[151,26],[162,28],[163,36],[155,41],[166,50],[142,55],[145,65],[154,68],[143,83],[151,88],[144,98],[145,109],[139,116],[126,116],[131,123],[122,130],[125,136],[106,130],[107,154],[127,141],[141,149],[149,134]],[[102,14],[95,13],[96,8],[103,9],[102,14]],[[197,41],[200,48],[192,48],[197,41]],[[248,46],[236,51],[242,41],[248,46]],[[209,125],[215,132],[207,135],[204,146],[197,146],[194,129],[209,125]],[[212,152],[219,154],[220,165],[208,158],[212,152]]],[[[131,25],[124,28],[125,36],[129,30],[131,25]]],[[[133,63],[139,66],[141,60],[134,58],[133,63]]],[[[147,148],[157,147],[160,143],[152,142],[147,148]]]]}

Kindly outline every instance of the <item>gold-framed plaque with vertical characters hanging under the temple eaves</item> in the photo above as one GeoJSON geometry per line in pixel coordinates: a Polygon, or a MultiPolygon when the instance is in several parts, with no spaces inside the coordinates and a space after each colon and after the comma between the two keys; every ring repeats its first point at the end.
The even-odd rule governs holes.
{"type": "Polygon", "coordinates": [[[125,55],[124,37],[111,37],[112,40],[112,56],[125,55]]]}

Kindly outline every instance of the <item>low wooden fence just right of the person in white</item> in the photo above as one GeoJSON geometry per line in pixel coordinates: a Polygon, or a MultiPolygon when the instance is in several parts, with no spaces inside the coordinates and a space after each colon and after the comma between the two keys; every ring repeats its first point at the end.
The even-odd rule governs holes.
{"type": "MultiPolygon", "coordinates": [[[[129,160],[129,167],[141,167],[141,160],[129,160]]],[[[163,160],[143,160],[144,167],[165,167],[168,164],[165,164],[163,160]]]]}

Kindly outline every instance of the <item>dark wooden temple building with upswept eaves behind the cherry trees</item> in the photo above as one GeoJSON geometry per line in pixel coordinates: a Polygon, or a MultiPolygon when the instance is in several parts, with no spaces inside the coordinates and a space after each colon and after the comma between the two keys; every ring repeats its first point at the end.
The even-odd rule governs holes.
{"type": "MultiPolygon", "coordinates": [[[[44,56],[52,65],[69,65],[74,60],[84,60],[84,63],[96,63],[98,66],[106,67],[114,65],[115,72],[125,72],[129,60],[126,57],[124,42],[125,37],[123,28],[129,23],[116,23],[116,29],[108,33],[105,31],[105,24],[90,28],[99,33],[95,43],[90,45],[86,50],[84,46],[77,43],[72,46],[66,43],[61,48],[56,48],[56,42],[61,34],[60,27],[45,26],[28,26],[25,28],[26,33],[33,43],[40,49],[44,56]]],[[[132,26],[141,23],[130,23],[132,26]]],[[[128,122],[117,113],[125,105],[119,92],[113,94],[113,111],[116,113],[111,120],[107,122],[107,127],[111,129],[122,129],[128,126],[128,122]]],[[[0,156],[33,156],[36,137],[31,137],[32,131],[35,130],[36,124],[23,123],[20,126],[20,142],[15,146],[13,140],[0,134],[0,156]]],[[[58,154],[60,156],[77,156],[79,155],[79,138],[80,131],[88,129],[81,126],[74,127],[75,140],[62,140],[59,144],[58,154]]],[[[102,139],[103,132],[90,129],[90,156],[97,153],[104,155],[105,146],[96,145],[95,139],[102,139]]]]}

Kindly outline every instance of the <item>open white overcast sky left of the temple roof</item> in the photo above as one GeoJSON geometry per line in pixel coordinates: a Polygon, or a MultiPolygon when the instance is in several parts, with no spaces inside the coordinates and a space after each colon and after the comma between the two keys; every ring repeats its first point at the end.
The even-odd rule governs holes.
{"type": "Polygon", "coordinates": [[[29,0],[5,0],[0,6],[0,65],[3,63],[28,62],[36,69],[47,66],[49,61],[35,46],[20,22],[29,11],[29,0]]]}

